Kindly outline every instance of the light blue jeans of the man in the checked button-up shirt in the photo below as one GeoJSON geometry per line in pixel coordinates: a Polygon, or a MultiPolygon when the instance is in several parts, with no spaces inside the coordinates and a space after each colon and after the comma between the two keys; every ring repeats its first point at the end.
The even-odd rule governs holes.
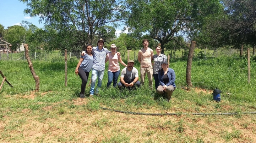
{"type": "Polygon", "coordinates": [[[95,88],[97,77],[98,77],[98,85],[96,89],[96,94],[99,92],[99,88],[101,87],[103,76],[104,76],[104,70],[98,71],[98,70],[92,69],[92,83],[91,83],[90,95],[94,94],[94,88],[95,88]]]}

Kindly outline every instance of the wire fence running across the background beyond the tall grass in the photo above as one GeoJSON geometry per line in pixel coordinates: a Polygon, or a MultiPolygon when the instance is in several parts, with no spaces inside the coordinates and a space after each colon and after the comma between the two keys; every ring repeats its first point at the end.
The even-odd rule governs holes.
{"type": "MultiPolygon", "coordinates": [[[[217,51],[209,50],[209,49],[195,49],[193,58],[207,59],[210,57],[219,57],[219,56],[239,56],[240,49],[220,49],[217,51]]],[[[123,60],[137,60],[138,50],[126,50],[126,51],[118,51],[121,53],[121,58],[123,60]]],[[[171,49],[164,50],[165,55],[169,55],[170,59],[176,58],[187,58],[188,50],[184,49],[171,49]]],[[[156,53],[156,52],[155,52],[156,53]]],[[[67,59],[79,59],[81,52],[67,52],[67,59]]],[[[247,55],[247,49],[243,50],[243,55],[247,55]]],[[[250,55],[252,55],[252,51],[250,51],[250,55]]],[[[29,52],[29,57],[31,60],[40,60],[40,61],[61,61],[65,58],[64,51],[53,51],[53,52],[29,52]]],[[[26,60],[25,53],[0,53],[0,60],[26,60]]]]}

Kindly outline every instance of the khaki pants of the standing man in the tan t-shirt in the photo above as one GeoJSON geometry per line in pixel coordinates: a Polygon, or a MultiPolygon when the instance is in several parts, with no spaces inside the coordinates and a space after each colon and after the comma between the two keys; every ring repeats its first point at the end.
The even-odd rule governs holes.
{"type": "Polygon", "coordinates": [[[146,73],[148,75],[148,85],[149,87],[152,88],[152,85],[153,85],[153,67],[150,66],[150,67],[146,67],[146,68],[143,68],[141,67],[140,68],[140,72],[141,72],[141,85],[144,85],[144,81],[145,81],[145,77],[146,77],[146,73]]]}

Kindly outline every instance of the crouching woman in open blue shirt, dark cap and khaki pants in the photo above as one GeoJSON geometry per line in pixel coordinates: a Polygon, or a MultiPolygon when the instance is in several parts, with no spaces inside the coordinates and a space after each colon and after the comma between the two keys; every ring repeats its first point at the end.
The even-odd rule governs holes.
{"type": "Polygon", "coordinates": [[[171,95],[176,88],[175,72],[172,68],[168,68],[168,62],[161,62],[162,69],[158,72],[159,86],[157,88],[158,94],[167,93],[168,102],[171,100],[171,95]]]}

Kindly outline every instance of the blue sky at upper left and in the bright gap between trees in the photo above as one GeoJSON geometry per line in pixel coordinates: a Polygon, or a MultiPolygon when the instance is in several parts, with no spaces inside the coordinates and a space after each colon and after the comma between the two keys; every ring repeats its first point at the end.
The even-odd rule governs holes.
{"type": "MultiPolygon", "coordinates": [[[[20,2],[20,0],[0,0],[1,14],[0,14],[0,24],[2,24],[5,29],[8,26],[20,25],[22,20],[27,20],[28,22],[36,25],[38,28],[43,28],[44,24],[39,23],[39,17],[32,18],[23,11],[27,8],[26,4],[20,2]]],[[[121,29],[116,29],[116,36],[119,37],[121,29]]],[[[125,31],[127,33],[128,31],[125,31]]]]}

